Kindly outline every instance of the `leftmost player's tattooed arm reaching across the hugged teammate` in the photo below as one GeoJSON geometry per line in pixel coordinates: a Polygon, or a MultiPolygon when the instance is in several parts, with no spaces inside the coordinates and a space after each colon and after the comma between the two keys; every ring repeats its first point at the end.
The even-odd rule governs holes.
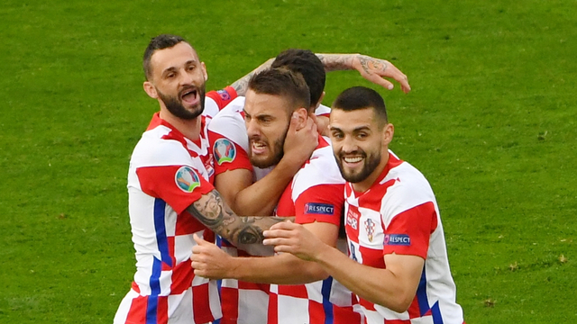
{"type": "Polygon", "coordinates": [[[188,206],[190,212],[208,229],[212,229],[234,246],[253,256],[272,255],[270,247],[262,246],[262,231],[287,217],[237,216],[216,190],[203,194],[199,200],[188,206]]]}

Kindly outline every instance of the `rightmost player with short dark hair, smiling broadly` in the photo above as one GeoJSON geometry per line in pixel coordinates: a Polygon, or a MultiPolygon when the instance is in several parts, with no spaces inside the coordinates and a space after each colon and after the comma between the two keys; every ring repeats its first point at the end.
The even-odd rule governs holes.
{"type": "Polygon", "coordinates": [[[349,257],[303,226],[276,224],[264,243],[321,266],[360,298],[369,324],[463,323],[435,194],[414,166],[389,150],[394,128],[380,94],[343,91],[330,117],[345,184],[349,257]]]}

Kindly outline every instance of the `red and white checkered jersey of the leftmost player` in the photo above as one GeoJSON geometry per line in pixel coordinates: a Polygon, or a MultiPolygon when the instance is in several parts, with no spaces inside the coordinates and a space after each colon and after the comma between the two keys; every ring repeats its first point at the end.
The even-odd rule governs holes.
{"type": "MultiPolygon", "coordinates": [[[[206,106],[218,104],[206,96],[206,106]]],[[[199,139],[184,137],[155,113],[133,150],[128,204],[136,274],[114,323],[206,323],[221,317],[217,283],[194,275],[193,233],[212,234],[186,211],[214,189],[206,123],[199,139]]],[[[214,235],[212,235],[214,237],[214,235]]]]}

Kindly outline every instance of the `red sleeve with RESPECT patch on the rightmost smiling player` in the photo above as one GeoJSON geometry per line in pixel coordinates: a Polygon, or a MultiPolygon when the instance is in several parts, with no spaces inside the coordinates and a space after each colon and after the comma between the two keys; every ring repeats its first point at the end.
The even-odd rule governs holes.
{"type": "Polygon", "coordinates": [[[417,256],[426,259],[429,238],[436,229],[435,204],[425,202],[396,215],[385,229],[383,256],[417,256]]]}

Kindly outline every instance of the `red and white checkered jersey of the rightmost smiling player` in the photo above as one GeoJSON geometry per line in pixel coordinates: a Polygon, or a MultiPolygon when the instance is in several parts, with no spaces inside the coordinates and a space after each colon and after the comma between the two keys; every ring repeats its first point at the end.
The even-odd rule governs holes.
{"type": "Polygon", "coordinates": [[[367,323],[463,323],[435,194],[425,176],[389,152],[389,163],[375,184],[356,193],[347,183],[345,196],[351,258],[378,268],[386,267],[383,256],[392,253],[425,259],[408,311],[390,311],[360,298],[367,323]]]}

